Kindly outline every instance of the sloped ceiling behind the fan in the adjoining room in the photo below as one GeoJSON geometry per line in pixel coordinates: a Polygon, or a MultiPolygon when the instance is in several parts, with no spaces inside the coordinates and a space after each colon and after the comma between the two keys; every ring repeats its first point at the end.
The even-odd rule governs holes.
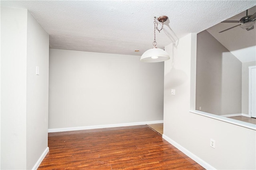
{"type": "MultiPolygon", "coordinates": [[[[248,15],[256,12],[256,6],[248,9],[248,15]]],[[[229,18],[228,20],[240,20],[246,16],[246,11],[229,18]]],[[[226,47],[233,55],[235,55],[242,63],[256,61],[256,24],[254,29],[246,31],[239,26],[228,31],[218,33],[224,29],[228,29],[239,23],[218,23],[207,31],[215,37],[224,47],[226,47]]]]}

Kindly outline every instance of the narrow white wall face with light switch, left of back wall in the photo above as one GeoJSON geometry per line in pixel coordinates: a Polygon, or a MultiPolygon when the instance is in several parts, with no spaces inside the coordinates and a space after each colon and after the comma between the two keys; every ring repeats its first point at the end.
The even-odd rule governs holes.
{"type": "Polygon", "coordinates": [[[32,169],[48,147],[49,35],[29,12],[27,31],[26,168],[32,169]]]}

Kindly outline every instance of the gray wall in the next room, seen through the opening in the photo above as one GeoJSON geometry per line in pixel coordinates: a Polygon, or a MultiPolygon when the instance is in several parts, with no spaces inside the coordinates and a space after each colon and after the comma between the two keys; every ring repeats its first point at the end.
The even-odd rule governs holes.
{"type": "Polygon", "coordinates": [[[242,63],[210,33],[197,34],[196,109],[242,113],[242,63]]]}

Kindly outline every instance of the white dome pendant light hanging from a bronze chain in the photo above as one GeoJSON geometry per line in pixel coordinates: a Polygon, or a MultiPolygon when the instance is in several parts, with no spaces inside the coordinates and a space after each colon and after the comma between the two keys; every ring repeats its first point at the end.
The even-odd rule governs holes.
{"type": "Polygon", "coordinates": [[[167,19],[168,19],[167,16],[161,16],[157,18],[157,20],[162,23],[161,29],[158,29],[157,27],[158,22],[156,21],[156,17],[154,17],[154,41],[153,41],[154,47],[152,49],[145,51],[142,54],[140,61],[147,62],[147,63],[156,63],[156,62],[162,62],[170,59],[166,51],[162,49],[158,49],[156,47],[156,29],[160,32],[163,29],[164,21],[166,21],[167,19]]]}

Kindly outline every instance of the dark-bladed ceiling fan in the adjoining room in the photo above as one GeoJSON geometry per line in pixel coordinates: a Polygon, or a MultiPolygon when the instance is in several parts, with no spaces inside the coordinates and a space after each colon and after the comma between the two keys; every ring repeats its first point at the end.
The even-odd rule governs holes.
{"type": "MultiPolygon", "coordinates": [[[[226,20],[226,21],[222,21],[222,22],[223,23],[240,23],[239,25],[242,29],[246,29],[247,31],[250,31],[251,29],[254,29],[254,22],[256,22],[256,12],[252,16],[248,16],[248,10],[246,10],[246,16],[241,18],[239,21],[226,20]]],[[[234,27],[237,27],[239,25],[236,25],[234,27]]],[[[228,31],[229,29],[232,29],[234,27],[230,27],[228,29],[220,31],[219,33],[222,33],[224,31],[228,31]]]]}

